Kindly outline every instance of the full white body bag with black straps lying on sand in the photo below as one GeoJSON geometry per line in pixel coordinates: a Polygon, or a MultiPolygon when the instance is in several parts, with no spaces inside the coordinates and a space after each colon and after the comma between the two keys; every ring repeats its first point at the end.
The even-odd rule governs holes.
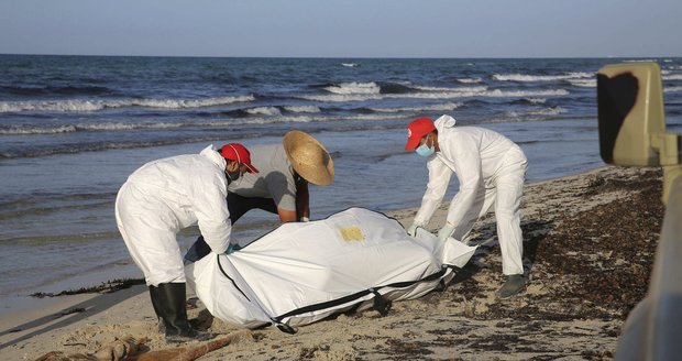
{"type": "Polygon", "coordinates": [[[231,254],[210,253],[186,267],[187,281],[215,317],[238,326],[310,324],[333,314],[420,297],[447,284],[475,247],[417,238],[383,214],[350,208],[327,219],[284,223],[231,254]]]}

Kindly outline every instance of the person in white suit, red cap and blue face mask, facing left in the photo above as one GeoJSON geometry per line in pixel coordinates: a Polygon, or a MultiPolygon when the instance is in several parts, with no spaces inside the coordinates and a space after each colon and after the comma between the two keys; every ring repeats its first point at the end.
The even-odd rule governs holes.
{"type": "Polygon", "coordinates": [[[454,124],[450,116],[409,123],[405,149],[428,158],[429,182],[407,232],[414,237],[417,228],[428,225],[454,173],[460,189],[438,238],[464,241],[474,222],[494,205],[502,271],[507,277],[495,294],[501,298],[514,296],[526,287],[519,208],[528,161],[517,144],[495,131],[454,124]]]}

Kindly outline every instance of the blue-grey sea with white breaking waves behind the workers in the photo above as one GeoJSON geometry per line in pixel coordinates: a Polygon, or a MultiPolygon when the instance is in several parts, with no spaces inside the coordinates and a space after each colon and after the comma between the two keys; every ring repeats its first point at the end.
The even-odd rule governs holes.
{"type": "MultiPolygon", "coordinates": [[[[336,180],[311,185],[312,219],[418,207],[425,161],[404,146],[421,116],[507,135],[528,156],[528,182],[603,166],[595,74],[627,61],[642,59],[1,55],[0,299],[141,277],[116,227],[119,187],[148,161],[208,144],[277,143],[293,129],[316,136],[336,180]]],[[[651,61],[680,131],[682,58],[651,61]]],[[[446,200],[455,192],[453,177],[446,200]]],[[[233,237],[245,243],[277,225],[253,210],[233,237]]],[[[182,248],[197,236],[183,231],[182,248]]]]}

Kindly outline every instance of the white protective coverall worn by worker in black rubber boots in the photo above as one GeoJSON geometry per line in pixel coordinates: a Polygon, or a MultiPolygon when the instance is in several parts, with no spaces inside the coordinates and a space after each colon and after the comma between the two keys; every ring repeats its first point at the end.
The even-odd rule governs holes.
{"type": "Polygon", "coordinates": [[[183,228],[198,223],[213,252],[227,250],[232,223],[224,169],[226,160],[209,145],[150,162],[128,177],[116,201],[117,225],[147,285],[185,282],[176,240],[183,228]]]}

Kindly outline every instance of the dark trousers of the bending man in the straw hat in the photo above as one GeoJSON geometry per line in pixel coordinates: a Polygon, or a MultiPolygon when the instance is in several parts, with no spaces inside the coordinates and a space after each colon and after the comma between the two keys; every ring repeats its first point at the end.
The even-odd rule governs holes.
{"type": "MultiPolygon", "coordinates": [[[[277,214],[277,205],[275,205],[273,198],[250,198],[242,197],[235,193],[228,193],[228,210],[230,211],[232,225],[237,223],[245,212],[255,208],[277,214]]],[[[209,253],[211,253],[211,248],[204,241],[204,237],[199,236],[195,244],[187,250],[185,262],[197,262],[209,253]]]]}

